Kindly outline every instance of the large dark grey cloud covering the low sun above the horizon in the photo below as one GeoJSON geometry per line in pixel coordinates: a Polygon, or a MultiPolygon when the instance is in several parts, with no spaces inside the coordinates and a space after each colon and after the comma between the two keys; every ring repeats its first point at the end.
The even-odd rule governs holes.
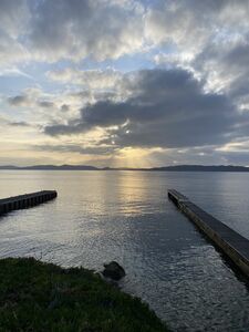
{"type": "Polygon", "coordinates": [[[226,95],[204,93],[203,84],[184,70],[139,71],[124,79],[123,89],[129,93],[124,102],[96,102],[82,108],[81,116],[68,125],[46,126],[45,133],[63,135],[104,127],[108,132],[105,144],[201,146],[227,142],[239,120],[226,95]],[[118,128],[108,129],[112,126],[118,128]]]}

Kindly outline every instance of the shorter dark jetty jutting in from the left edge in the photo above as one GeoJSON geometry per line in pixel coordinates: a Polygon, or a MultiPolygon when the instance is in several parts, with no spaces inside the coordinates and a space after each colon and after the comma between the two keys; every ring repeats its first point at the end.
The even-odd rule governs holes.
{"type": "Polygon", "coordinates": [[[58,196],[55,190],[43,190],[32,194],[24,194],[9,198],[0,199],[0,215],[8,214],[12,210],[25,209],[48,200],[54,199],[58,196]]]}

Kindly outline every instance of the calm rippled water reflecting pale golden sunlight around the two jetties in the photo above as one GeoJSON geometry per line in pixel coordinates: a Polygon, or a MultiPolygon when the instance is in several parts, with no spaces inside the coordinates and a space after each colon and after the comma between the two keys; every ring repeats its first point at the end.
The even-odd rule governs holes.
{"type": "Polygon", "coordinates": [[[167,199],[175,188],[249,238],[249,174],[0,172],[0,197],[56,189],[58,199],[0,218],[0,257],[101,270],[174,331],[249,331],[243,278],[167,199]]]}

